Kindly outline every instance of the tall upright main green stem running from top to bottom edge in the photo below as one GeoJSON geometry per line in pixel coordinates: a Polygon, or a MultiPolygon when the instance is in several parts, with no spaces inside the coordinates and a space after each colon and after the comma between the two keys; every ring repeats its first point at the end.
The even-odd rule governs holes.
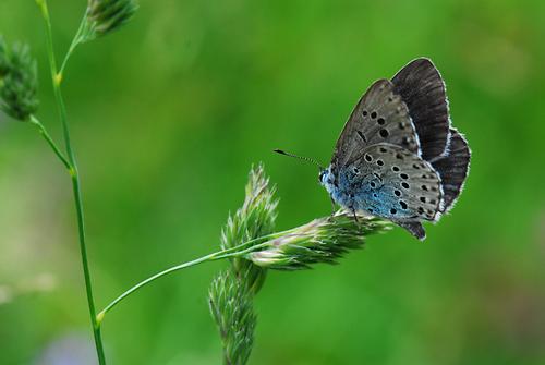
{"type": "Polygon", "coordinates": [[[84,216],[83,216],[83,203],[82,203],[82,194],[80,186],[80,174],[77,172],[77,165],[75,161],[75,156],[72,150],[72,143],[70,141],[70,130],[66,120],[66,109],[64,107],[64,99],[62,98],[62,93],[60,88],[61,76],[57,71],[57,61],[55,58],[53,51],[53,40],[52,40],[52,32],[51,32],[51,21],[49,19],[49,11],[47,8],[47,0],[36,0],[36,3],[40,7],[41,14],[46,22],[46,39],[47,39],[47,53],[49,57],[49,65],[51,70],[51,78],[53,83],[53,92],[55,98],[57,100],[57,107],[59,109],[60,119],[62,122],[62,130],[64,134],[64,144],[66,147],[68,160],[70,162],[70,175],[72,178],[72,191],[74,195],[75,210],[77,216],[77,231],[80,238],[80,253],[82,258],[83,273],[85,279],[85,290],[87,293],[87,305],[89,309],[90,323],[93,326],[93,334],[95,338],[95,346],[97,351],[98,362],[100,365],[106,365],[106,356],[104,352],[102,339],[100,333],[100,326],[96,320],[96,311],[95,311],[95,300],[93,297],[93,288],[90,280],[90,270],[87,260],[87,248],[85,244],[85,224],[84,224],[84,216]]]}

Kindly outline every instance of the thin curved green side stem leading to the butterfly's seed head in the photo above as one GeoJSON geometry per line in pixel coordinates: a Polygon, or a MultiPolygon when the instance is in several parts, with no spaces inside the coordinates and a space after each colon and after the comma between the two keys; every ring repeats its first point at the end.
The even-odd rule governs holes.
{"type": "Polygon", "coordinates": [[[172,266],[166,270],[162,270],[160,272],[157,272],[149,278],[138,282],[137,284],[133,285],[131,289],[125,291],[123,294],[119,295],[116,300],[113,300],[110,304],[108,304],[98,315],[97,315],[97,323],[98,326],[102,323],[102,319],[105,315],[110,312],[117,304],[119,304],[121,301],[123,301],[125,297],[137,291],[138,289],[142,289],[143,287],[147,285],[152,281],[155,281],[159,278],[162,278],[169,273],[175,272],[178,270],[182,270],[198,264],[207,263],[207,261],[215,261],[223,258],[229,258],[229,257],[240,257],[244,256],[247,253],[252,253],[254,251],[257,251],[262,247],[265,247],[269,244],[268,240],[271,238],[276,238],[286,233],[289,233],[291,230],[283,231],[283,232],[276,232],[272,234],[267,234],[254,240],[250,240],[247,242],[244,242],[238,246],[231,247],[231,248],[226,248],[222,251],[215,252],[213,254],[196,258],[194,260],[183,263],[177,266],[172,266]],[[265,242],[264,242],[265,241],[265,242]],[[256,244],[257,242],[261,242],[256,244]]]}

